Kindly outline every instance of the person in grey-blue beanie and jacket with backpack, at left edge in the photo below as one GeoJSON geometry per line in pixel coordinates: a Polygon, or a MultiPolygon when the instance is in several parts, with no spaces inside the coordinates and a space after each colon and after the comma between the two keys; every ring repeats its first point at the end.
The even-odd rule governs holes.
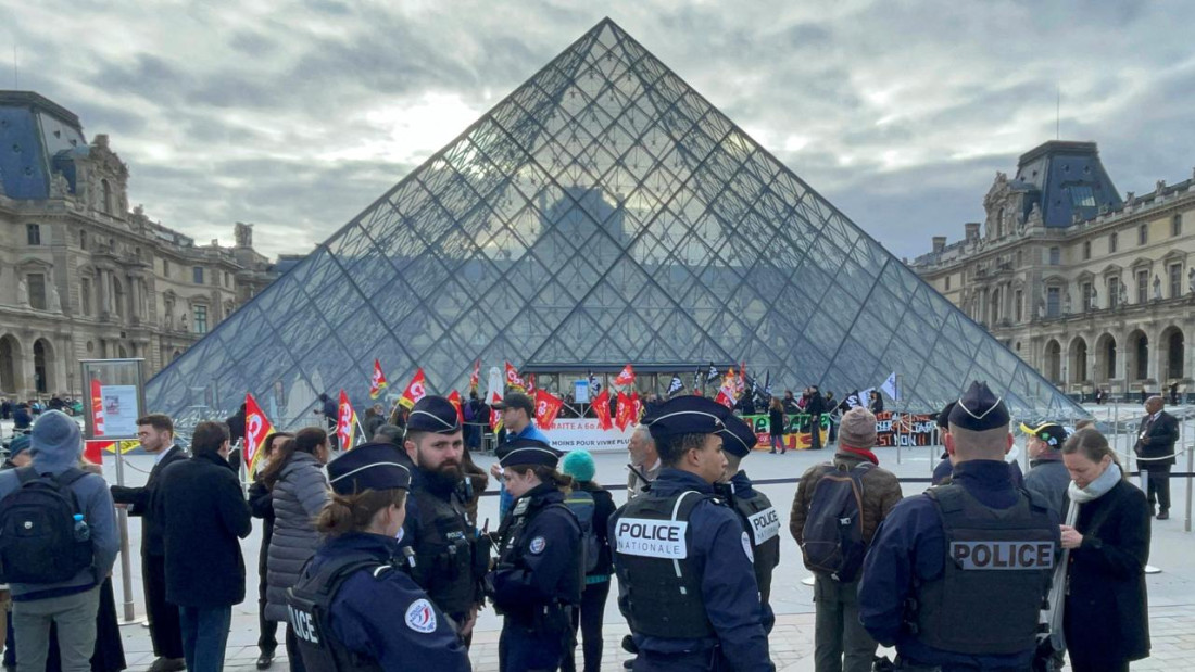
{"type": "Polygon", "coordinates": [[[30,529],[36,522],[56,525],[57,534],[17,543],[0,540],[0,580],[10,584],[13,633],[20,642],[17,666],[45,668],[50,627],[56,624],[62,670],[90,671],[100,584],[120,549],[112,497],[103,476],[79,469],[82,437],[65,413],[49,411],[38,418],[29,451],[31,464],[0,471],[0,528],[30,529]],[[47,504],[37,492],[51,487],[71,492],[69,511],[47,504]]]}

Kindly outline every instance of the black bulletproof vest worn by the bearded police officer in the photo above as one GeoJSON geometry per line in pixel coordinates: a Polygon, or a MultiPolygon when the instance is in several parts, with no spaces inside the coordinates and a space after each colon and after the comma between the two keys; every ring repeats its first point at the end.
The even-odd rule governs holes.
{"type": "Polygon", "coordinates": [[[411,578],[445,614],[467,614],[478,602],[478,578],[473,571],[476,538],[465,510],[455,494],[445,500],[421,488],[411,497],[419,513],[411,578]]]}

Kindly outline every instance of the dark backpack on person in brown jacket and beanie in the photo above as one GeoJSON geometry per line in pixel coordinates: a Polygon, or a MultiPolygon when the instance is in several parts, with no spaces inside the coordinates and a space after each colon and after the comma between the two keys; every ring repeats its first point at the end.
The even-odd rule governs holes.
{"type": "Polygon", "coordinates": [[[823,466],[802,530],[801,554],[808,569],[844,584],[858,577],[868,553],[863,540],[863,475],[871,468],[870,462],[850,471],[823,466]]]}

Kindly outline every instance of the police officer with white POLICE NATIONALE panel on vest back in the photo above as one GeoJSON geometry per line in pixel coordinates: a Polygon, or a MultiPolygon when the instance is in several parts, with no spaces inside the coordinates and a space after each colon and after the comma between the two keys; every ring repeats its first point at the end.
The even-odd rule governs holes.
{"type": "Polygon", "coordinates": [[[619,609],[641,672],[774,670],[750,537],[713,492],[727,469],[724,414],[699,396],[661,405],[645,420],[660,476],[612,517],[619,609]]]}

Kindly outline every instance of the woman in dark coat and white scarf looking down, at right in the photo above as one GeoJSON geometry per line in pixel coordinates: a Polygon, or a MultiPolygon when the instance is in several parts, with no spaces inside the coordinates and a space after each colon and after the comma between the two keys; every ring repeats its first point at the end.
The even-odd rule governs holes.
{"type": "Polygon", "coordinates": [[[1062,445],[1078,506],[1073,525],[1062,525],[1067,567],[1064,628],[1076,672],[1127,671],[1150,655],[1150,505],[1124,479],[1108,439],[1080,430],[1062,445]]]}

